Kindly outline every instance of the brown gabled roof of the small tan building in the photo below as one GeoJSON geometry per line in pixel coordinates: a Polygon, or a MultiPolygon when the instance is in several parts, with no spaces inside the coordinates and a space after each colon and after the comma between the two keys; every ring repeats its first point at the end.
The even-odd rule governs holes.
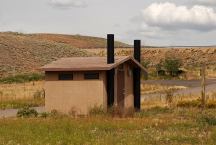
{"type": "Polygon", "coordinates": [[[71,57],[61,58],[57,61],[43,66],[44,71],[93,71],[93,70],[111,70],[118,65],[130,61],[135,67],[140,67],[143,71],[146,69],[131,56],[121,56],[115,58],[115,63],[107,64],[106,57],[71,57]]]}

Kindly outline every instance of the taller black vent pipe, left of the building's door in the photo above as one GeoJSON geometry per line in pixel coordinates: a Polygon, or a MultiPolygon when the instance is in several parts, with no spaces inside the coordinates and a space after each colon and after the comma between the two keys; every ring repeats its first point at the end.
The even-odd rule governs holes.
{"type": "MultiPolygon", "coordinates": [[[[114,58],[114,35],[107,35],[107,63],[112,64],[115,62],[114,58]]],[[[112,107],[114,104],[114,75],[115,70],[107,71],[107,105],[112,107]]]]}

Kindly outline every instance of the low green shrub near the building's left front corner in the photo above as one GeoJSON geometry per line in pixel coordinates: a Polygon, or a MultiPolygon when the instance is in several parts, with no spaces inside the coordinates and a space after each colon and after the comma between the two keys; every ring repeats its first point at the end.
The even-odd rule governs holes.
{"type": "Polygon", "coordinates": [[[22,109],[19,109],[17,112],[17,117],[37,117],[38,112],[35,109],[32,109],[30,107],[24,107],[22,109]]]}

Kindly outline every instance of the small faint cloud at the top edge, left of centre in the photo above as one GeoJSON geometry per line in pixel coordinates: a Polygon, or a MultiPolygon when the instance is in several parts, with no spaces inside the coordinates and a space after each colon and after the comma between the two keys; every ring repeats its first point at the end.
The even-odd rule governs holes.
{"type": "Polygon", "coordinates": [[[50,4],[61,9],[87,7],[87,4],[81,0],[50,0],[50,4]]]}

